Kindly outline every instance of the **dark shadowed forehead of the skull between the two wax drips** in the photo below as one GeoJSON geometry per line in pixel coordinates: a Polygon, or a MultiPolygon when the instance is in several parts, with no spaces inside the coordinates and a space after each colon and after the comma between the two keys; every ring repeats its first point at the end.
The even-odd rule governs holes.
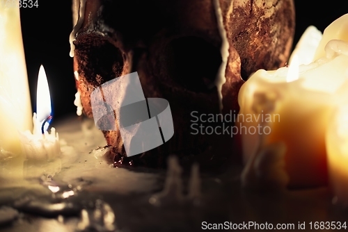
{"type": "Polygon", "coordinates": [[[129,47],[148,45],[161,35],[202,36],[219,44],[216,15],[211,0],[87,1],[84,28],[109,35],[129,47]]]}

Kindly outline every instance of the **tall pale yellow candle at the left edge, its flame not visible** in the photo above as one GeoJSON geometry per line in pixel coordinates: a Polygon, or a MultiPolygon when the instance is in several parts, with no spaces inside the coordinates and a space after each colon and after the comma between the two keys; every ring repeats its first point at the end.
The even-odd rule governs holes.
{"type": "Polygon", "coordinates": [[[0,4],[0,54],[1,159],[21,154],[17,131],[33,126],[18,7],[0,4]]]}

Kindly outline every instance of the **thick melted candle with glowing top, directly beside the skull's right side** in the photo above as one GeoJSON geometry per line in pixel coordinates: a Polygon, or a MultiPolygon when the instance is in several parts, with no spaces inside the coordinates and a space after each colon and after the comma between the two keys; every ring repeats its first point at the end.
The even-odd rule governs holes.
{"type": "Polygon", "coordinates": [[[259,147],[283,142],[291,187],[327,181],[325,131],[347,81],[348,43],[331,40],[325,50],[326,57],[301,65],[299,72],[292,69],[294,64],[276,71],[260,69],[239,92],[237,126],[244,162],[252,160],[259,147]]]}

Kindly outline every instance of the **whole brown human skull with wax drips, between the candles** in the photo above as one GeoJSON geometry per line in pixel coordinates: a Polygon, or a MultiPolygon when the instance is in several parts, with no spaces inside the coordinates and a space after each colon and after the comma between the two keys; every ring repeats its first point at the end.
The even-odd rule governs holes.
{"type": "Polygon", "coordinates": [[[93,117],[95,88],[132,72],[138,72],[145,97],[170,103],[175,133],[157,149],[127,157],[117,120],[116,130],[102,131],[116,164],[157,167],[176,154],[188,163],[198,160],[204,169],[235,156],[230,134],[193,135],[191,129],[192,112],[221,110],[219,91],[212,88],[223,60],[217,6],[229,45],[222,113],[235,114],[243,79],[286,63],[294,35],[292,0],[73,1],[74,71],[84,114],[93,117]]]}

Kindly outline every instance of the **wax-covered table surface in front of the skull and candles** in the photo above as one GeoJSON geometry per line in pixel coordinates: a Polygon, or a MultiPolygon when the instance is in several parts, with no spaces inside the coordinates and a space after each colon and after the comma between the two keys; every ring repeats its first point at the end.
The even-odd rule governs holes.
{"type": "Polygon", "coordinates": [[[110,167],[102,151],[90,152],[105,144],[90,125],[75,117],[58,124],[61,158],[45,165],[26,162],[24,178],[0,179],[0,206],[19,213],[0,225],[1,232],[201,231],[203,222],[294,226],[283,231],[303,231],[304,222],[308,231],[310,222],[314,229],[315,222],[347,221],[347,211],[333,206],[327,188],[246,191],[240,186],[241,167],[219,176],[201,174],[200,197],[188,196],[189,176],[180,179],[182,194],[176,192],[181,185],[173,183],[161,195],[166,172],[110,167]]]}

